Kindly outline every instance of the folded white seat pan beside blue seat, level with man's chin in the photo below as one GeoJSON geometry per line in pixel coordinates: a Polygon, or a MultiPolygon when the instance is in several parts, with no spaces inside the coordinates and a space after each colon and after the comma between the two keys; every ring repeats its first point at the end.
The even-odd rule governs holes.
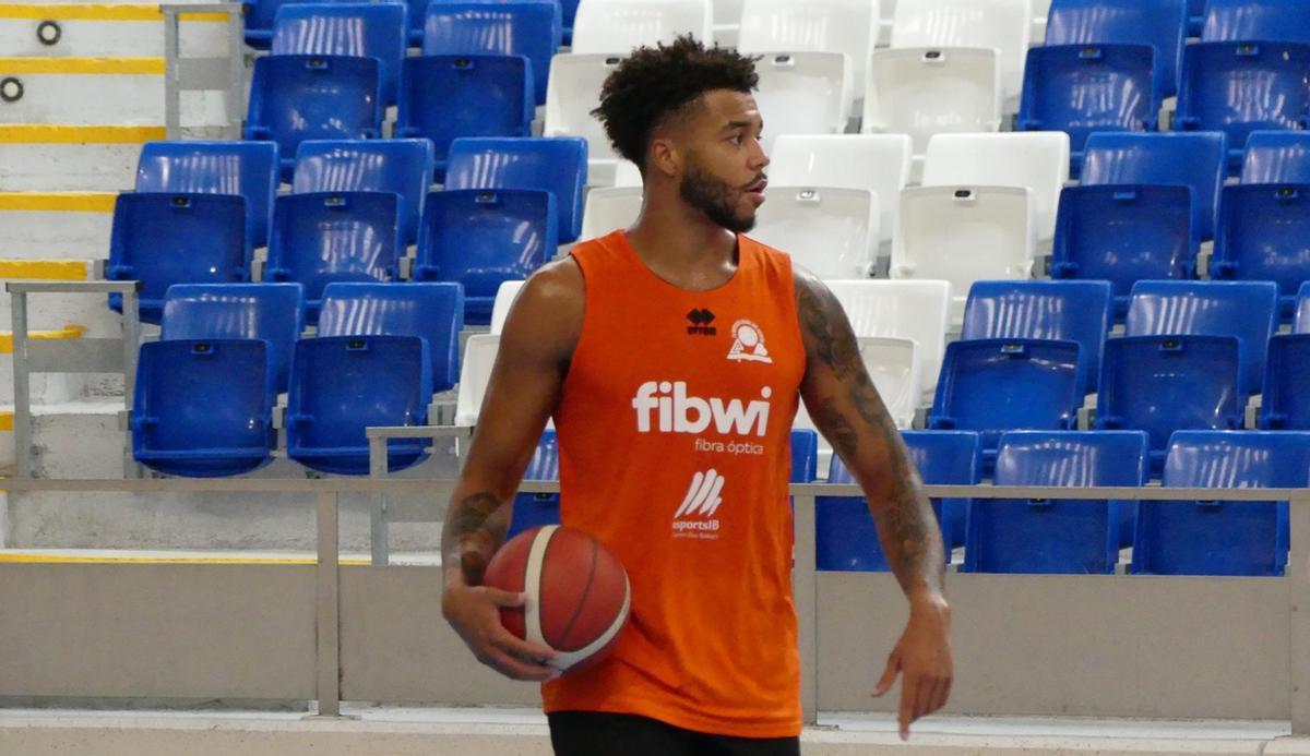
{"type": "Polygon", "coordinates": [[[901,192],[892,242],[893,279],[951,283],[951,323],[964,317],[969,286],[1031,277],[1032,204],[1022,187],[914,187],[901,192]]]}

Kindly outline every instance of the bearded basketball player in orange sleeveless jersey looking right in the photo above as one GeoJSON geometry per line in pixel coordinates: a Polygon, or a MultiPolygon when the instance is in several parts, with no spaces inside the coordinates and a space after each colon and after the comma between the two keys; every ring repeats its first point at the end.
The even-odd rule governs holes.
{"type": "MultiPolygon", "coordinates": [[[[645,179],[641,217],[527,283],[500,336],[443,534],[443,611],[479,661],[541,680],[561,756],[799,753],[790,430],[803,398],[863,488],[909,623],[900,734],[952,679],[938,524],[841,306],[743,235],[764,203],[755,63],[690,38],[642,48],[597,118],[645,179]],[[558,676],[482,587],[546,419],[561,518],[618,556],[631,620],[613,653],[558,676]]],[[[859,600],[859,596],[852,596],[859,600]]],[[[872,649],[870,649],[872,653],[872,649]]]]}

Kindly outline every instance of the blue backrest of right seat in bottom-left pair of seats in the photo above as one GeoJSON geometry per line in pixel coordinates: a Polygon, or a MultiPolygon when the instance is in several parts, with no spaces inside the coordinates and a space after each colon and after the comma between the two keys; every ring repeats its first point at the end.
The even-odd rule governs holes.
{"type": "Polygon", "coordinates": [[[458,284],[328,284],[320,336],[419,336],[432,360],[432,390],[460,379],[464,292],[458,284]]]}

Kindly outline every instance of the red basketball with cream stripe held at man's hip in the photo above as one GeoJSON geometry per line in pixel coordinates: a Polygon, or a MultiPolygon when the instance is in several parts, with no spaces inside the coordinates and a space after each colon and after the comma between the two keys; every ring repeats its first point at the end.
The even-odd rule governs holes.
{"type": "Polygon", "coordinates": [[[550,524],[510,539],[487,565],[483,582],[527,594],[521,607],[500,610],[515,636],[554,649],[550,662],[571,670],[599,659],[627,621],[627,572],[590,535],[550,524]]]}

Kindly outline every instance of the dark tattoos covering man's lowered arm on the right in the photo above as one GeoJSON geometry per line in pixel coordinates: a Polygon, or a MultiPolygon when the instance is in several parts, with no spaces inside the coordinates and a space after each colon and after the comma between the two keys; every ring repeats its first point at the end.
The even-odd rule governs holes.
{"type": "Polygon", "coordinates": [[[921,586],[939,589],[945,557],[931,505],[920,488],[900,430],[865,370],[841,303],[817,279],[800,273],[796,305],[810,358],[821,370],[831,370],[840,383],[837,395],[819,396],[817,407],[811,408],[815,425],[848,463],[857,459],[862,443],[867,445],[863,451],[887,462],[880,501],[870,497],[887,562],[907,594],[921,586]],[[854,416],[844,411],[844,403],[854,416]]]}

